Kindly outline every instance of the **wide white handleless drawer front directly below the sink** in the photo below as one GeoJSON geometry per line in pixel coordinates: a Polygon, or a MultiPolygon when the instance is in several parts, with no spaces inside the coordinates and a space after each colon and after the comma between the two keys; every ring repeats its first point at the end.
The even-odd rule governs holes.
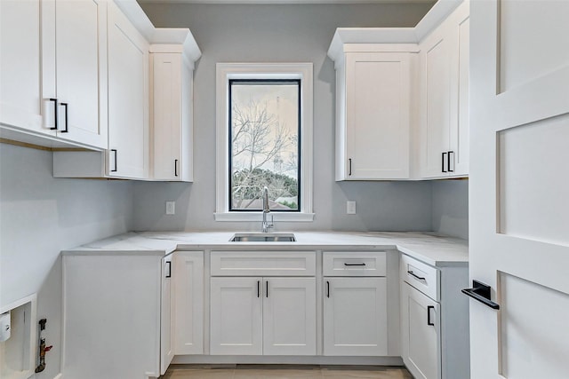
{"type": "Polygon", "coordinates": [[[314,251],[212,251],[212,276],[315,276],[314,251]]]}

